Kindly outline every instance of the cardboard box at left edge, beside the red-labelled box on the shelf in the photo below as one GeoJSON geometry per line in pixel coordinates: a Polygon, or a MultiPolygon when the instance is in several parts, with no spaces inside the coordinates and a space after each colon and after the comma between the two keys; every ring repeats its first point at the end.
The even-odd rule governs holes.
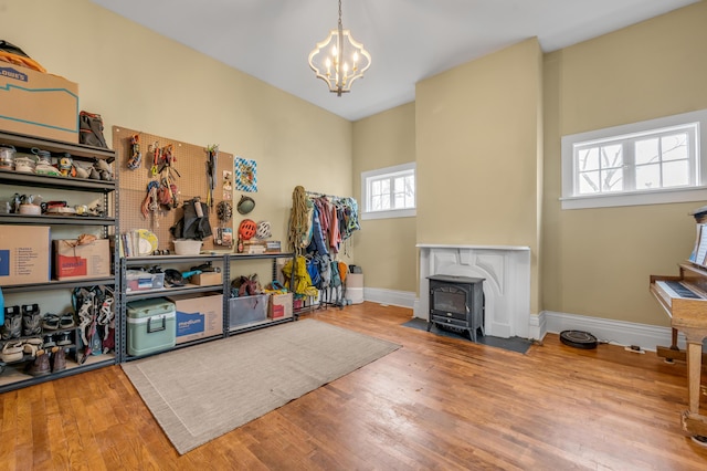
{"type": "Polygon", "coordinates": [[[49,282],[51,243],[51,229],[46,226],[3,226],[0,286],[49,282]]]}

